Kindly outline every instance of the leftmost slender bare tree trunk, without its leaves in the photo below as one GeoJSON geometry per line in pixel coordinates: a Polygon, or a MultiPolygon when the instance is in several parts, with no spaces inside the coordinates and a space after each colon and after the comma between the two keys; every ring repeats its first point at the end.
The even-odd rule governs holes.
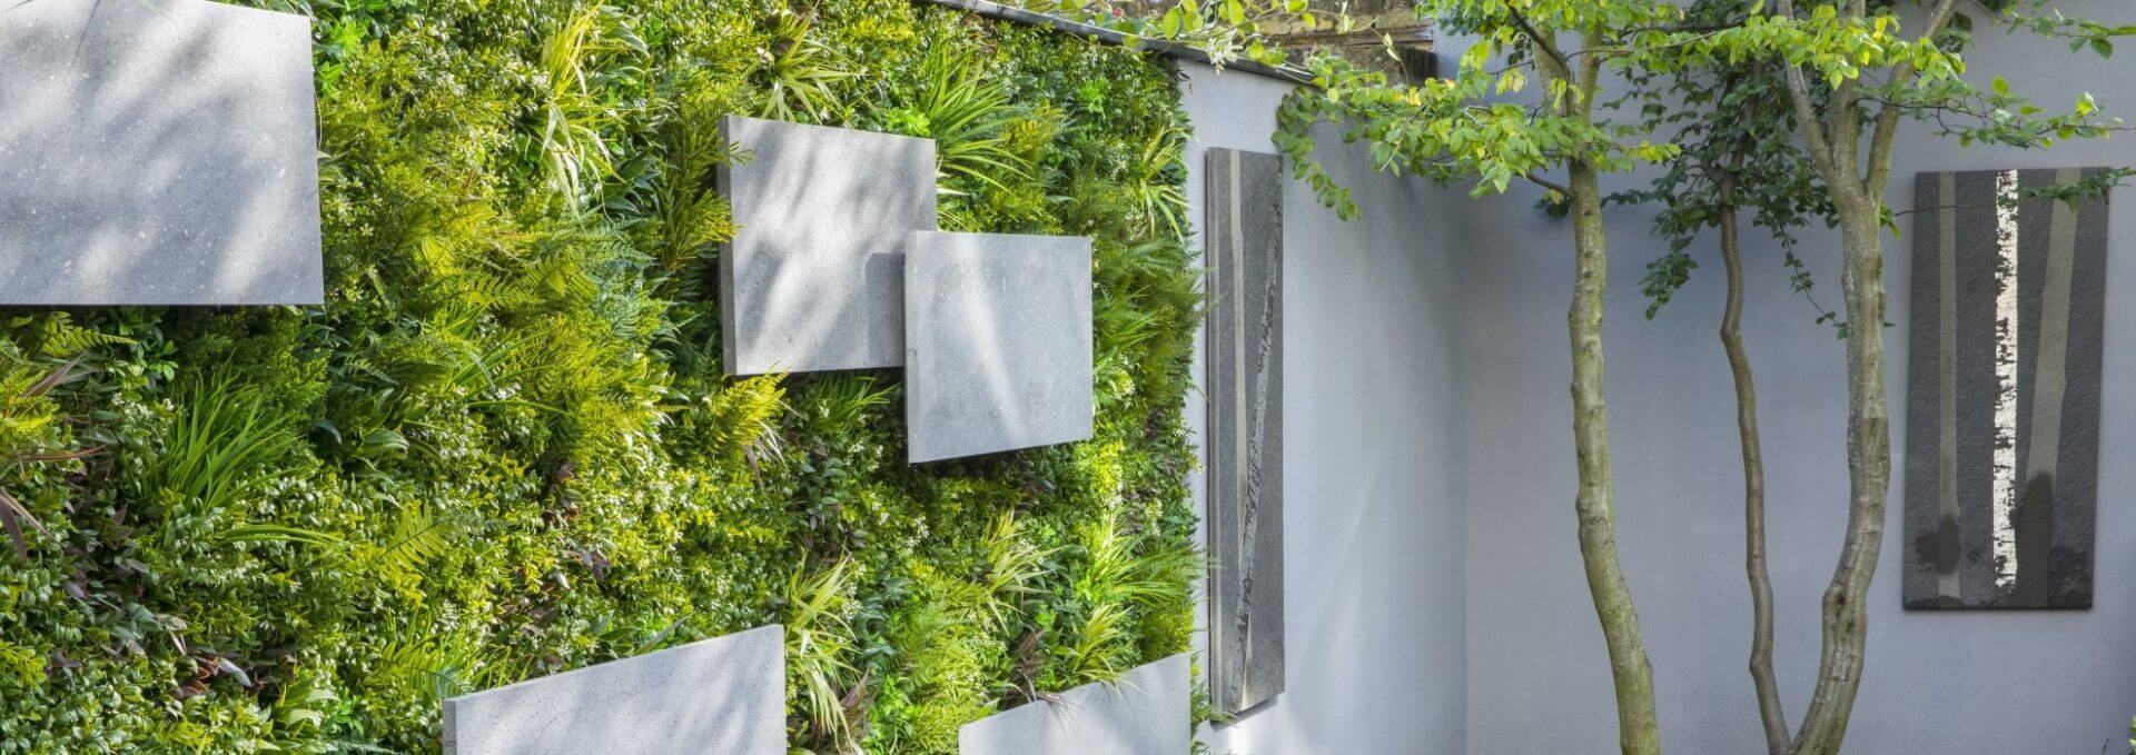
{"type": "Polygon", "coordinates": [[[1579,454],[1581,559],[1587,591],[1602,621],[1611,676],[1617,685],[1617,742],[1625,753],[1662,751],[1660,717],[1653,706],[1653,668],[1638,633],[1632,589],[1617,563],[1617,512],[1608,459],[1608,405],[1602,392],[1602,292],[1608,286],[1608,247],[1602,230],[1602,177],[1587,162],[1570,171],[1572,241],[1576,282],[1566,316],[1572,335],[1572,439],[1579,454]]]}

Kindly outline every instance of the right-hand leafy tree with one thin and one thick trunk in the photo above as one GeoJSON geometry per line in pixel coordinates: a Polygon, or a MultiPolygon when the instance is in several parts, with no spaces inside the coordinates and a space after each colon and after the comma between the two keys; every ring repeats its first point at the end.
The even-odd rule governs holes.
{"type": "MultiPolygon", "coordinates": [[[[1867,591],[1875,578],[1875,559],[1884,537],[1884,501],[1890,493],[1882,232],[1892,226],[1895,218],[1884,194],[1901,119],[1933,122],[1942,134],[1957,136],[1965,145],[1986,141],[2010,147],[2048,147],[2057,139],[2100,136],[2119,128],[2119,122],[2098,119],[2089,96],[2078,98],[2070,113],[2046,115],[2044,109],[2010,94],[2001,79],[1995,79],[1989,90],[1974,87],[1963,79],[1965,62],[1961,58],[1972,41],[1974,19],[1959,13],[1959,0],[1918,4],[1925,11],[1925,21],[1920,32],[1905,36],[1892,2],[1809,2],[1799,11],[1792,0],[1779,0],[1773,13],[1764,13],[1764,2],[1754,0],[1739,4],[1747,9],[1741,19],[1713,19],[1715,23],[1705,28],[1677,30],[1679,41],[1692,49],[1690,55],[1655,58],[1662,64],[1687,62],[1692,68],[1717,70],[1724,77],[1726,73],[1743,73],[1745,66],[1752,75],[1777,66],[1786,92],[1779,102],[1790,111],[1788,119],[1801,139],[1801,154],[1816,179],[1792,179],[1792,175],[1801,175],[1801,168],[1794,168],[1777,183],[1762,186],[1752,200],[1762,211],[1779,207],[1779,215],[1764,215],[1760,224],[1769,218],[1786,220],[1788,211],[1799,213],[1813,207],[1820,213],[1828,211],[1841,235],[1843,314],[1820,314],[1820,320],[1839,326],[1848,354],[1848,535],[1831,587],[1824,591],[1824,650],[1816,687],[1801,729],[1788,738],[1786,714],[1771,687],[1771,587],[1762,565],[1762,463],[1756,454],[1756,392],[1749,384],[1747,356],[1743,356],[1741,331],[1737,328],[1741,258],[1734,252],[1737,220],[1732,211],[1743,196],[1734,194],[1737,183],[1726,179],[1726,186],[1717,183],[1719,192],[1711,209],[1717,213],[1713,222],[1722,228],[1724,258],[1730,264],[1730,305],[1722,337],[1737,371],[1745,444],[1745,512],[1752,516],[1747,563],[1756,606],[1754,636],[1758,638],[1754,640],[1752,674],[1773,753],[1837,753],[1852,719],[1854,693],[1860,687],[1867,650],[1867,591]]],[[[1984,0],[1976,4],[2006,28],[2070,38],[2072,51],[2091,49],[2108,55],[2113,53],[2113,36],[2136,32],[2136,28],[2106,28],[2059,13],[2040,15],[2044,0],[1984,0]]],[[[1764,83],[1764,87],[1773,87],[1773,83],[1764,83]]],[[[1743,119],[1752,126],[1741,128],[1754,130],[1766,128],[1758,124],[1771,117],[1756,109],[1747,115],[1737,111],[1715,117],[1743,119]]],[[[1705,132],[1705,136],[1711,139],[1713,132],[1705,132]]],[[[1711,158],[1713,154],[1707,151],[1711,147],[1711,143],[1698,143],[1687,154],[1711,158]]],[[[1730,151],[1728,145],[1719,149],[1719,154],[1741,158],[1760,156],[1760,151],[1730,151]]],[[[1777,160],[1788,162],[1788,158],[1777,160]]],[[[2115,173],[2110,181],[2123,177],[2125,173],[2115,173]]],[[[2070,188],[2066,194],[2104,190],[2106,186],[2091,183],[2070,188]]],[[[1664,213],[1664,228],[1666,218],[1664,213]]],[[[1769,228],[1786,235],[1781,226],[1769,228]]],[[[1788,260],[1794,262],[1792,254],[1788,260]]],[[[1668,260],[1664,258],[1664,262],[1668,260]]],[[[1668,271],[1666,264],[1660,269],[1668,271]]],[[[1681,284],[1681,279],[1670,282],[1664,275],[1662,284],[1681,284]]],[[[1796,290],[1807,290],[1807,277],[1796,277],[1796,290]]]]}

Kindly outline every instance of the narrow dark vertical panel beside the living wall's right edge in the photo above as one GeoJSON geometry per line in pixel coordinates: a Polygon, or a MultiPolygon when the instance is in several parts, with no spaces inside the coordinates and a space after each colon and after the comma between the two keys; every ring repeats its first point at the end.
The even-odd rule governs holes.
{"type": "Polygon", "coordinates": [[[1209,689],[1284,691],[1284,160],[1209,149],[1209,689]]]}

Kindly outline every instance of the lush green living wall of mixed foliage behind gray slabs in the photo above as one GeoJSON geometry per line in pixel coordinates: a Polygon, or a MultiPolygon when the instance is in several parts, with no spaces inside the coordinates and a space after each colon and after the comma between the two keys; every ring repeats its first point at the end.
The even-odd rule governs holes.
{"type": "Polygon", "coordinates": [[[295,11],[327,305],[0,311],[0,751],[434,751],[446,695],[784,623],[797,749],[948,753],[1188,648],[1162,62],[906,0],[295,11]],[[1096,439],[914,467],[897,371],[722,378],[726,113],[1094,237],[1096,439]]]}

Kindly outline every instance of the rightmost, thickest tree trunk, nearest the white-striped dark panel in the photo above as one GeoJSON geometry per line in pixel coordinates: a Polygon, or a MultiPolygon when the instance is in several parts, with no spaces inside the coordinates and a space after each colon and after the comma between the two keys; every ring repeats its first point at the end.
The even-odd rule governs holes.
{"type": "Polygon", "coordinates": [[[1867,593],[1884,544],[1890,493],[1890,409],[1884,403],[1882,196],[1839,200],[1841,290],[1848,311],[1848,540],[1824,591],[1824,657],[1794,753],[1839,753],[1869,642],[1867,593]]]}

